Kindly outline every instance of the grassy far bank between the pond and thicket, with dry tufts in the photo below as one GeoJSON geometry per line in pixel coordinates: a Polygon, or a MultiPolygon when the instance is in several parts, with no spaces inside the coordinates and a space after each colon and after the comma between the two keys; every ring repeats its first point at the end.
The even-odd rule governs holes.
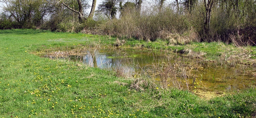
{"type": "MultiPolygon", "coordinates": [[[[216,61],[220,58],[229,58],[230,56],[238,56],[241,58],[241,55],[244,59],[256,59],[256,46],[247,46],[238,48],[232,44],[225,44],[223,42],[191,42],[186,45],[169,45],[168,41],[162,41],[160,39],[154,42],[145,42],[138,40],[128,40],[126,45],[130,47],[139,47],[139,48],[148,48],[148,49],[157,49],[157,50],[169,50],[174,52],[179,52],[180,50],[191,50],[200,55],[200,58],[204,58],[206,61],[216,61]]],[[[244,60],[246,61],[246,60],[244,60]]]]}

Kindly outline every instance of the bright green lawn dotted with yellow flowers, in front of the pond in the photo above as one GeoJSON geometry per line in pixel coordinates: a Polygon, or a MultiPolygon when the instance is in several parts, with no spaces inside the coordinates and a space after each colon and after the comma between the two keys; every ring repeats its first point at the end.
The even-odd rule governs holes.
{"type": "Polygon", "coordinates": [[[253,88],[208,101],[176,89],[136,91],[129,88],[130,80],[113,72],[32,54],[51,48],[112,45],[114,41],[80,33],[0,30],[0,117],[255,116],[253,88]]]}

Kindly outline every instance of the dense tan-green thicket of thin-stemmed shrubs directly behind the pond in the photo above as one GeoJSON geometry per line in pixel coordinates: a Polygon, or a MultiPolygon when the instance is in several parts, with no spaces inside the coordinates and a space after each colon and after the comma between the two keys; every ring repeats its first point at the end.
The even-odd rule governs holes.
{"type": "Polygon", "coordinates": [[[176,14],[173,10],[166,8],[163,12],[144,10],[141,14],[127,10],[119,19],[113,19],[100,28],[103,33],[118,37],[135,38],[154,41],[158,38],[176,42],[187,43],[198,41],[197,33],[190,25],[190,19],[186,15],[176,14]],[[192,39],[189,39],[194,35],[192,39]],[[179,38],[177,38],[179,37],[179,38]],[[184,41],[188,40],[189,41],[184,41]],[[182,41],[181,41],[182,40],[182,41]]]}

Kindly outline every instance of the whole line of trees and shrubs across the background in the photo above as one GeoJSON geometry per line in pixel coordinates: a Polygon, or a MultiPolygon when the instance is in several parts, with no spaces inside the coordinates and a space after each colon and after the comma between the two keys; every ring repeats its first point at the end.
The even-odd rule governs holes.
{"type": "Polygon", "coordinates": [[[107,34],[170,44],[256,45],[255,0],[0,0],[0,29],[107,34]],[[90,13],[84,12],[90,9],[90,13]]]}

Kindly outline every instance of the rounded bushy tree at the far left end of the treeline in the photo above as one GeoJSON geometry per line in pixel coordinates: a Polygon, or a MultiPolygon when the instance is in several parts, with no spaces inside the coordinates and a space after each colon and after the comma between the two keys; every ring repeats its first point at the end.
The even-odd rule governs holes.
{"type": "Polygon", "coordinates": [[[51,5],[42,0],[0,0],[4,3],[3,11],[9,14],[19,25],[19,28],[40,26],[51,5]]]}

